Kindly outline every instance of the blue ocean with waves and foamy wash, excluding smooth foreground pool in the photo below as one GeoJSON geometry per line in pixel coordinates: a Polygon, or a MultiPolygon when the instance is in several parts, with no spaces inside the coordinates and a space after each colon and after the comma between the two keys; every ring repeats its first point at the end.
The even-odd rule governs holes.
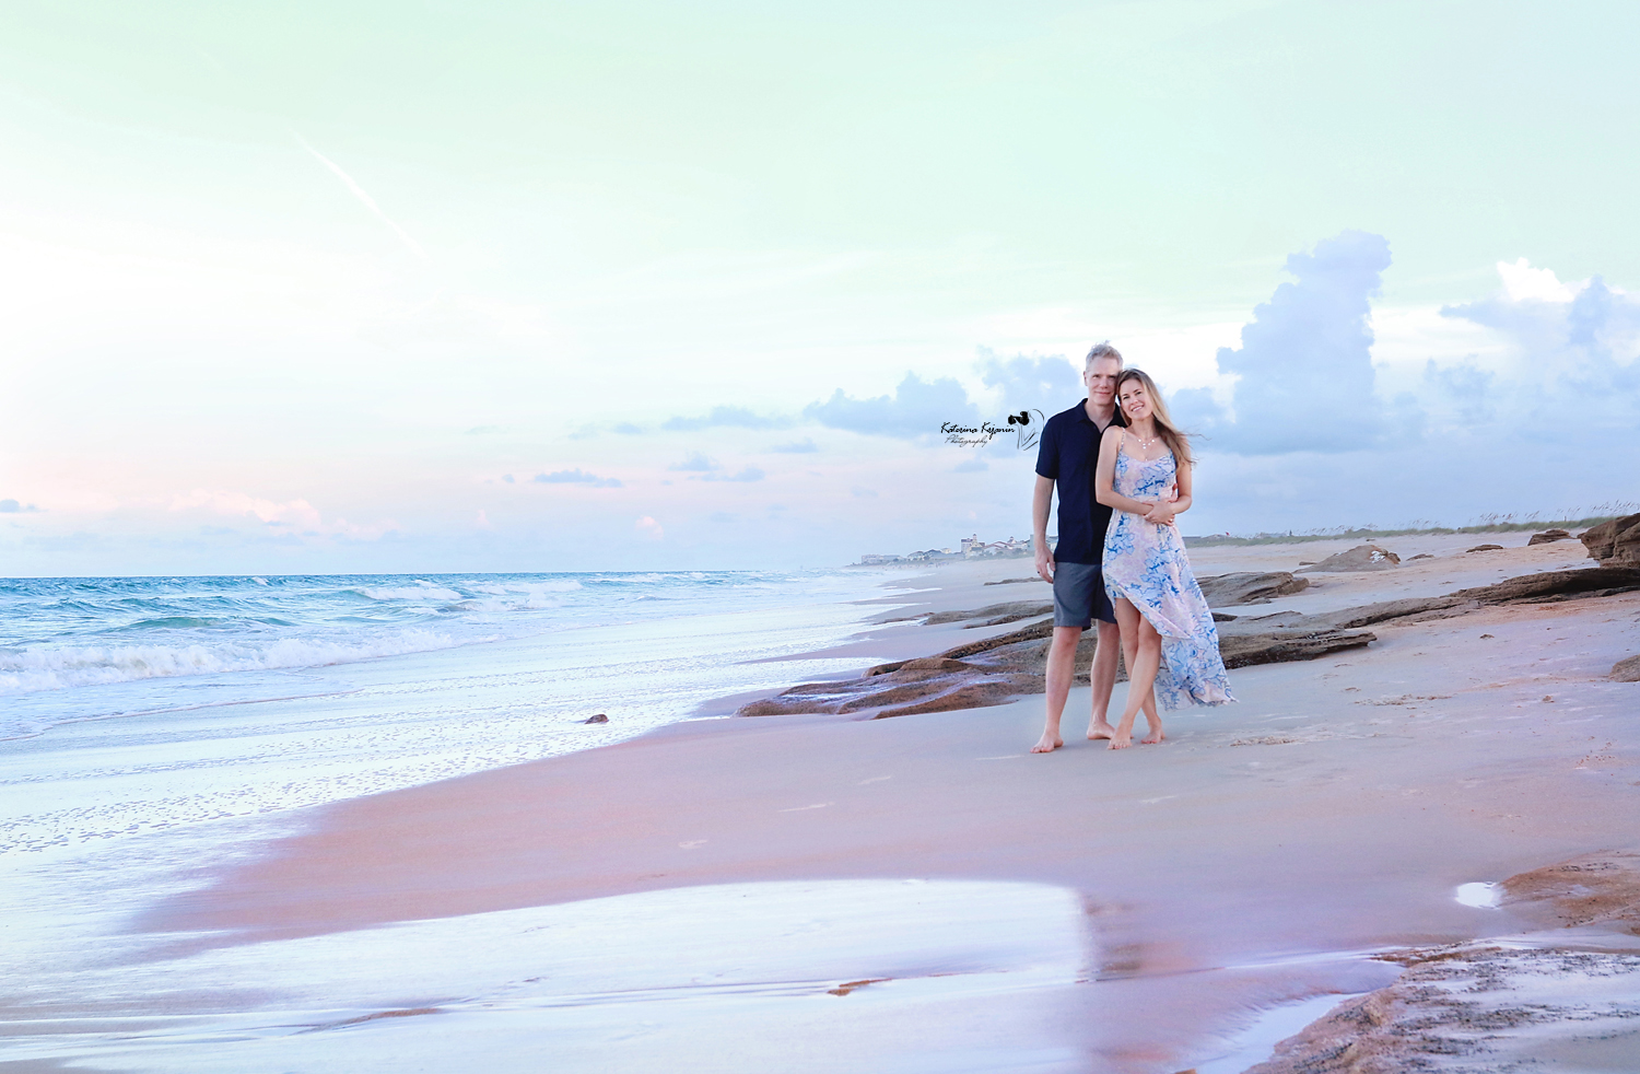
{"type": "Polygon", "coordinates": [[[0,854],[630,738],[858,666],[777,658],[845,638],[892,577],[0,580],[0,854]]]}

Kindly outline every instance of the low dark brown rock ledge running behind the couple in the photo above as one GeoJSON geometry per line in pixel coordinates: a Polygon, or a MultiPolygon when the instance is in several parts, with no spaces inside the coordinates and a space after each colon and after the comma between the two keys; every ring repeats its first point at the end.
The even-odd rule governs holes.
{"type": "MultiPolygon", "coordinates": [[[[1309,582],[1291,574],[1219,576],[1200,579],[1209,603],[1223,607],[1227,597],[1243,603],[1297,592],[1309,582]],[[1214,598],[1217,595],[1217,598],[1214,598]]],[[[1640,590],[1640,567],[1586,567],[1548,571],[1507,579],[1494,585],[1461,589],[1445,597],[1386,600],[1302,615],[1278,612],[1264,617],[1215,617],[1219,649],[1227,667],[1307,661],[1340,649],[1371,644],[1376,635],[1363,630],[1379,623],[1420,621],[1463,615],[1474,608],[1514,602],[1553,602],[1602,597],[1640,590]]],[[[774,697],[741,705],[738,717],[787,713],[838,713],[881,720],[923,712],[1002,705],[1025,694],[1046,690],[1045,669],[1053,635],[1053,605],[1040,602],[997,603],[973,612],[941,612],[922,617],[925,623],[995,626],[1025,618],[1036,621],[994,638],[954,646],[932,658],[877,664],[858,679],[805,682],[774,697]]],[[[1077,682],[1087,680],[1097,648],[1097,633],[1082,635],[1076,651],[1077,682]]],[[[1118,672],[1117,679],[1122,679],[1118,672]]]]}

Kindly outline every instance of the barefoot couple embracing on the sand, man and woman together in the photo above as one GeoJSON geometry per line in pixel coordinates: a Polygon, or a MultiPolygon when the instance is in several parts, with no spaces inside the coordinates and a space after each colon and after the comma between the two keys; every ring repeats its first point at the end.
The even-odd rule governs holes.
{"type": "Polygon", "coordinates": [[[1097,344],[1082,364],[1087,400],[1048,418],[1036,453],[1032,525],[1036,574],[1053,582],[1048,649],[1048,726],[1032,753],[1064,744],[1059,717],[1076,677],[1076,646],[1099,623],[1091,671],[1094,713],[1087,738],[1110,749],[1132,744],[1140,710],[1146,743],[1163,740],[1156,699],[1222,705],[1235,700],[1219,656],[1219,630],[1191,574],[1174,517],[1191,507],[1191,446],[1174,426],[1156,384],[1123,369],[1122,354],[1097,344]],[[1048,551],[1048,507],[1059,492],[1059,543],[1048,551]],[[1110,725],[1117,644],[1127,658],[1128,697],[1110,725]]]}

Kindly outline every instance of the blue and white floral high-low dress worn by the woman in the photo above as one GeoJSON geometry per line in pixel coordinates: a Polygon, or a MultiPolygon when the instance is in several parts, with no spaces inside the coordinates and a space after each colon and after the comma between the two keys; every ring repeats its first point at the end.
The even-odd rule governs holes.
{"type": "MultiPolygon", "coordinates": [[[[1112,487],[1135,500],[1159,500],[1176,469],[1171,453],[1159,459],[1133,459],[1117,451],[1112,487]]],[[[1219,628],[1191,572],[1178,526],[1110,512],[1102,566],[1110,602],[1125,598],[1161,635],[1156,702],[1169,712],[1181,703],[1233,702],[1230,676],[1219,656],[1219,628]]]]}

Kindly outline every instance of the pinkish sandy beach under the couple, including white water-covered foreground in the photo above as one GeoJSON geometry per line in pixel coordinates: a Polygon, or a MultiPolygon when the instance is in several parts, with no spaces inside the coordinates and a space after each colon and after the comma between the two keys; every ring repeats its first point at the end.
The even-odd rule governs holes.
{"type": "MultiPolygon", "coordinates": [[[[1232,613],[1594,566],[1578,541],[1525,538],[1387,539],[1399,567],[1307,576],[1232,613]],[[1506,548],[1465,551],[1481,543],[1506,548]]],[[[1294,571],[1350,544],[1191,556],[1199,576],[1294,571]]],[[[810,656],[864,669],[1017,630],[920,617],[1048,600],[1007,580],[1027,576],[1022,559],[941,567],[810,656]]],[[[1633,1069],[1640,685],[1609,671],[1640,653],[1640,592],[1373,630],[1232,671],[1240,703],[1164,713],[1159,746],[1082,741],[1081,687],[1046,756],[1028,753],[1028,695],[700,718],[318,807],[251,858],[190,869],[130,923],[143,953],[98,999],[10,1005],[10,1033],[34,1040],[15,1069],[456,1069],[484,1040],[502,1056],[487,1069],[525,1049],[564,1071],[1209,1074],[1269,1059],[1340,1003],[1387,1003],[1432,953],[1474,951],[1512,953],[1483,974],[1492,999],[1543,1008],[1532,989],[1561,982],[1568,1013],[1468,1033],[1420,1053],[1427,1069],[1633,1069]],[[1622,881],[1599,912],[1556,917],[1555,874],[1510,881],[1578,861],[1622,881]],[[1527,966],[1568,951],[1606,961],[1527,966]]],[[[1338,1033],[1269,1069],[1405,1069],[1340,1059],[1338,1033]]]]}

